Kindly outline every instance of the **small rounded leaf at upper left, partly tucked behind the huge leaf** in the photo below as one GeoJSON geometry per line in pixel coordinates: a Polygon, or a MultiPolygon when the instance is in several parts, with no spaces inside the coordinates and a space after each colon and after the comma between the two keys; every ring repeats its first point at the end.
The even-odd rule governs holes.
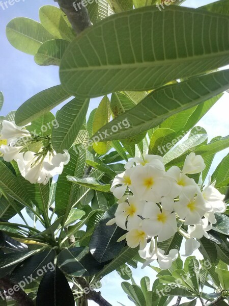
{"type": "Polygon", "coordinates": [[[53,39],[44,42],[34,57],[35,63],[40,66],[60,66],[61,59],[69,42],[63,39],[53,39]]]}

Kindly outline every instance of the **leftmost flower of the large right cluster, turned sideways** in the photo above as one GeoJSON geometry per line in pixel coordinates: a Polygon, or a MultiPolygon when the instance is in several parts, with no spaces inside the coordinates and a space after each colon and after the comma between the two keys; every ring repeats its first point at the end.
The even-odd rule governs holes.
{"type": "Polygon", "coordinates": [[[113,180],[110,191],[117,199],[120,199],[124,195],[128,187],[131,189],[132,182],[130,175],[132,174],[133,170],[133,168],[127,169],[125,172],[117,175],[113,180]]]}

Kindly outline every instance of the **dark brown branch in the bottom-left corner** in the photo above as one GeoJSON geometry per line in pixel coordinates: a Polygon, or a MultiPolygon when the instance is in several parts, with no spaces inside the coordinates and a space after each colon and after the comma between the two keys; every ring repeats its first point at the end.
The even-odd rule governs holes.
{"type": "MultiPolygon", "coordinates": [[[[0,287],[7,292],[7,296],[11,296],[15,301],[17,301],[19,306],[34,306],[33,300],[18,285],[12,283],[7,277],[0,279],[0,287]]],[[[6,297],[3,292],[2,295],[4,298],[6,297]]],[[[2,298],[2,296],[0,298],[2,298]]]]}

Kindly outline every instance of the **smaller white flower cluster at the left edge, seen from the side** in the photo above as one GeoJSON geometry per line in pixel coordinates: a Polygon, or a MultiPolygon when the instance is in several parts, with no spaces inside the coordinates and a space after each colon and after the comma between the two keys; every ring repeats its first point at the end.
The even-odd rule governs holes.
{"type": "Polygon", "coordinates": [[[34,136],[14,121],[3,120],[1,139],[7,140],[7,145],[2,145],[0,151],[5,161],[15,160],[21,175],[30,183],[46,185],[51,177],[61,174],[64,165],[70,161],[68,150],[64,154],[56,154],[52,149],[49,137],[34,136]],[[38,153],[25,151],[28,144],[41,140],[48,140],[48,145],[38,153]],[[18,145],[18,144],[23,145],[18,145]]]}

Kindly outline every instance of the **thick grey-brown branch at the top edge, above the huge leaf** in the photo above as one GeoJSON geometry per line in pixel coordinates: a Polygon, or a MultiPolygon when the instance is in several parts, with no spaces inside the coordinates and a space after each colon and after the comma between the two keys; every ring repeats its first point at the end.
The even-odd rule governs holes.
{"type": "Polygon", "coordinates": [[[82,5],[81,0],[54,0],[68,17],[76,34],[91,27],[92,22],[88,10],[82,5]]]}

